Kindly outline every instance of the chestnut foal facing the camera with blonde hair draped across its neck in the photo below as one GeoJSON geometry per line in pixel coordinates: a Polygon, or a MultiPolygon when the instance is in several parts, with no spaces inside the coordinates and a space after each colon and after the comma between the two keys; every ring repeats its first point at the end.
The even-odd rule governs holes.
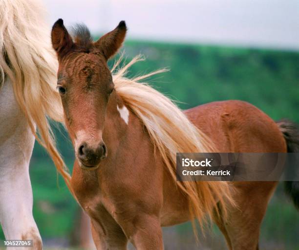
{"type": "MultiPolygon", "coordinates": [[[[93,43],[84,25],[72,38],[60,19],[51,34],[76,154],[71,187],[91,218],[97,249],[124,250],[130,241],[138,250],[161,250],[162,226],[202,223],[205,215],[214,219],[229,249],[258,249],[260,224],[277,182],[176,182],[176,152],[287,152],[287,145],[293,152],[298,132],[242,101],[183,113],[137,83],[157,72],[124,77],[138,58],[113,73],[118,61],[112,75],[107,60],[126,31],[122,21],[93,43]]],[[[295,200],[296,183],[290,185],[295,200]]]]}

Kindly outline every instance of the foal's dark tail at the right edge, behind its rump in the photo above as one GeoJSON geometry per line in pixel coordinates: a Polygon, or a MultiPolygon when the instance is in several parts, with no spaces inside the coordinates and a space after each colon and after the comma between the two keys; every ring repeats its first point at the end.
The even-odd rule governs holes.
{"type": "MultiPolygon", "coordinates": [[[[299,128],[296,124],[289,120],[281,120],[277,124],[287,143],[288,153],[299,153],[299,128]]],[[[299,182],[285,182],[285,191],[299,209],[299,182]]]]}

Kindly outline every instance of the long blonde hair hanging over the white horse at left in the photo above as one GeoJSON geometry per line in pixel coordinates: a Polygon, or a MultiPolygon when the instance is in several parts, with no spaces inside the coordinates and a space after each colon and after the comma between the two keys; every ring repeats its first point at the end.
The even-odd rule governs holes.
{"type": "Polygon", "coordinates": [[[56,91],[58,62],[44,13],[37,0],[0,0],[0,87],[4,76],[8,76],[32,133],[46,148],[69,186],[70,176],[55,147],[46,117],[63,121],[62,104],[56,91]]]}

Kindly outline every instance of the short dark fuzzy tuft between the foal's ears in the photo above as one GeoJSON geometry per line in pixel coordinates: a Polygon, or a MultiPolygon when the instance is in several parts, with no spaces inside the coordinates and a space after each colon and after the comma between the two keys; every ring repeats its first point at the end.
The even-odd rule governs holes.
{"type": "Polygon", "coordinates": [[[92,43],[92,37],[89,29],[84,23],[78,23],[72,27],[72,37],[79,47],[89,47],[92,43]]]}

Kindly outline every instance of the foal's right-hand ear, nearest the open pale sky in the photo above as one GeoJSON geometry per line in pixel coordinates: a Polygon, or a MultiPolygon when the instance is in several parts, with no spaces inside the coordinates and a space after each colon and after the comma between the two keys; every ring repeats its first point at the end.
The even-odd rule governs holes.
{"type": "Polygon", "coordinates": [[[102,50],[105,58],[108,60],[122,46],[126,33],[126,23],[121,21],[115,29],[102,36],[94,45],[102,50]]]}

